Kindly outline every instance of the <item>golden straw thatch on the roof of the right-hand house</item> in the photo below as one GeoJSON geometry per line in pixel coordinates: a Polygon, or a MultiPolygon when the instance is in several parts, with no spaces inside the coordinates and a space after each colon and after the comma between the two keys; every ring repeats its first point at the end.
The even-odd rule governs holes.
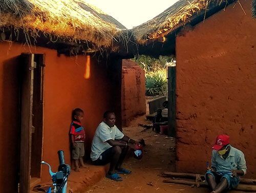
{"type": "Polygon", "coordinates": [[[162,33],[172,31],[180,23],[189,22],[194,14],[207,10],[210,3],[219,5],[226,0],[180,0],[164,12],[132,29],[136,41],[144,44],[147,40],[155,39],[162,33]]]}

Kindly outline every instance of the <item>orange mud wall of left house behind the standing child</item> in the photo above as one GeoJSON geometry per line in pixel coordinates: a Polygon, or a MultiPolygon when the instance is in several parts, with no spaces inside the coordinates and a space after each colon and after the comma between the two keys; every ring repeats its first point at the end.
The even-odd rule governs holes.
{"type": "MultiPolygon", "coordinates": [[[[8,193],[17,192],[18,181],[18,56],[30,50],[7,42],[0,42],[0,48],[0,192],[8,193]]],[[[84,79],[86,56],[58,57],[55,50],[46,48],[31,48],[31,52],[45,54],[43,159],[56,170],[59,149],[70,164],[69,126],[74,108],[84,110],[87,153],[104,111],[116,111],[117,124],[121,125],[121,60],[110,59],[106,64],[104,59],[98,63],[91,58],[90,78],[84,79]]],[[[50,180],[45,166],[41,180],[50,180]]]]}

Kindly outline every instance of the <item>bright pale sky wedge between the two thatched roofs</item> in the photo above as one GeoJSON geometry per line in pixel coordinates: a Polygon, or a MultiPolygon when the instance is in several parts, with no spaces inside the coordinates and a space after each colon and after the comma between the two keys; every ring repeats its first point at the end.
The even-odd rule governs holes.
{"type": "Polygon", "coordinates": [[[87,0],[131,29],[172,6],[177,0],[87,0]]]}

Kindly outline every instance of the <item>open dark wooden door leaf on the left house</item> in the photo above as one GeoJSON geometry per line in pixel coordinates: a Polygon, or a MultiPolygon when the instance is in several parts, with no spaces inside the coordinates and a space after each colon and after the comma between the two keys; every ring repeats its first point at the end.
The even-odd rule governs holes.
{"type": "Polygon", "coordinates": [[[22,88],[21,88],[21,131],[20,131],[20,165],[19,193],[28,193],[30,187],[31,135],[34,54],[22,54],[22,88]]]}

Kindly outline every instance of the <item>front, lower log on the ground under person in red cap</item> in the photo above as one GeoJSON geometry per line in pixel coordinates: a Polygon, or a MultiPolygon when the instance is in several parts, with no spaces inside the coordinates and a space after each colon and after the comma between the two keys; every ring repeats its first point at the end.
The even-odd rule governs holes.
{"type": "MultiPolygon", "coordinates": [[[[184,184],[184,185],[196,185],[196,182],[188,181],[188,180],[163,180],[164,183],[174,183],[174,184],[184,184]]],[[[205,182],[198,182],[200,187],[208,187],[208,184],[205,182]]],[[[249,192],[256,192],[255,185],[245,185],[239,184],[238,187],[234,188],[233,190],[239,191],[249,191],[249,192]]]]}

